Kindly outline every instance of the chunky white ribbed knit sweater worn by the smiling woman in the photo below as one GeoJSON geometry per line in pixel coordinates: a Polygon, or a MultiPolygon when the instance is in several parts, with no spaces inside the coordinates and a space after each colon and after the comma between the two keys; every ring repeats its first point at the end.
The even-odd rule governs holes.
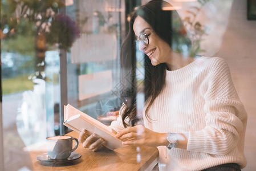
{"type": "MultiPolygon", "coordinates": [[[[222,58],[200,57],[178,70],[166,71],[166,86],[149,109],[149,117],[155,121],[145,118],[145,108],[146,128],[161,133],[189,132],[186,150],[157,147],[160,170],[202,170],[226,163],[246,166],[247,114],[222,58]]],[[[111,128],[116,132],[124,129],[121,117],[111,128]]]]}

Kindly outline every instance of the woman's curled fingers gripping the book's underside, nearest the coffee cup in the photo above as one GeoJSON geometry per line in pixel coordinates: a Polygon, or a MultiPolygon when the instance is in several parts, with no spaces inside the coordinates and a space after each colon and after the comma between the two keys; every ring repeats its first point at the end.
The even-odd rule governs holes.
{"type": "Polygon", "coordinates": [[[80,132],[78,140],[80,143],[83,143],[83,148],[88,148],[94,152],[103,148],[103,145],[105,144],[105,141],[102,138],[98,139],[94,133],[88,135],[85,129],[80,132]]]}

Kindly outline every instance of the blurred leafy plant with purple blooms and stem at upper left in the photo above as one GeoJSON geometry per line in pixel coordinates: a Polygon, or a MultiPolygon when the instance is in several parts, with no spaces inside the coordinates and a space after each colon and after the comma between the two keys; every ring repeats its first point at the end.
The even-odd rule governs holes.
{"type": "Polygon", "coordinates": [[[1,6],[1,51],[30,55],[37,78],[44,78],[46,50],[70,50],[79,36],[70,17],[60,14],[62,0],[5,0],[1,6]],[[38,74],[37,74],[38,73],[38,74]]]}

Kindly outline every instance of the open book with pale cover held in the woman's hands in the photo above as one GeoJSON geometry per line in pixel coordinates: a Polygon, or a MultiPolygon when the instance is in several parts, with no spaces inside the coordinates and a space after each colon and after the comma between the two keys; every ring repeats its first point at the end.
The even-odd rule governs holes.
{"type": "Polygon", "coordinates": [[[122,141],[115,137],[115,133],[112,132],[110,127],[72,107],[70,104],[64,106],[63,125],[78,133],[83,129],[86,129],[90,135],[95,133],[97,137],[101,137],[106,141],[104,146],[109,149],[124,147],[122,141]]]}

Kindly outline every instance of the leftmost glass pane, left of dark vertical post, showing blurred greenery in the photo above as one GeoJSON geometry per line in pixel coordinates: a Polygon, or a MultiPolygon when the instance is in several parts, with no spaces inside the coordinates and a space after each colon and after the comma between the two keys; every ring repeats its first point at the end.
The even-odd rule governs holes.
{"type": "Polygon", "coordinates": [[[59,134],[59,49],[72,42],[60,39],[66,38],[63,7],[60,1],[1,1],[5,170],[32,170],[29,150],[59,134]]]}

